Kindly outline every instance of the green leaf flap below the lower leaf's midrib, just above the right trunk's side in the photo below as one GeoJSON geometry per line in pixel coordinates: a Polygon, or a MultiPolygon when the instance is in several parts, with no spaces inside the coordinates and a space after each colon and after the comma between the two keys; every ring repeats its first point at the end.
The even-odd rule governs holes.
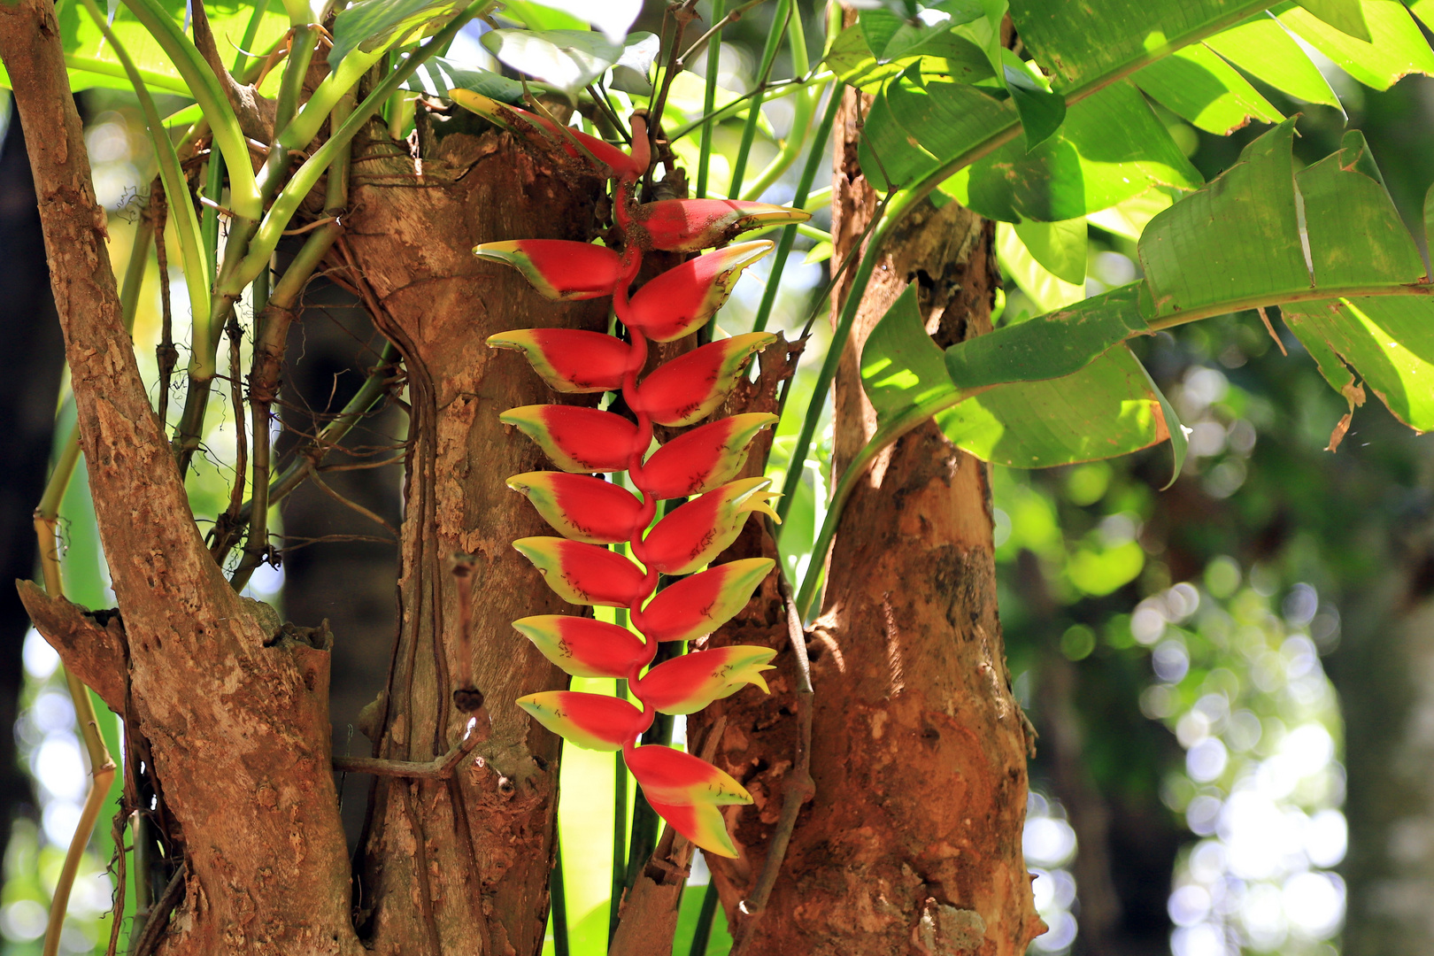
{"type": "Polygon", "coordinates": [[[997,386],[938,413],[936,424],[965,451],[1022,469],[1110,459],[1180,433],[1126,347],[1061,378],[997,386]]]}

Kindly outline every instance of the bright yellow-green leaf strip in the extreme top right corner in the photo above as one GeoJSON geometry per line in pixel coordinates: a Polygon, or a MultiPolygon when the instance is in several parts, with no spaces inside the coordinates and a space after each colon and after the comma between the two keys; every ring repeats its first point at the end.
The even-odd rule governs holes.
{"type": "Polygon", "coordinates": [[[1410,73],[1434,75],[1434,50],[1404,4],[1364,0],[1364,19],[1374,37],[1369,43],[1341,33],[1299,7],[1279,14],[1281,23],[1365,86],[1384,90],[1410,73]]]}

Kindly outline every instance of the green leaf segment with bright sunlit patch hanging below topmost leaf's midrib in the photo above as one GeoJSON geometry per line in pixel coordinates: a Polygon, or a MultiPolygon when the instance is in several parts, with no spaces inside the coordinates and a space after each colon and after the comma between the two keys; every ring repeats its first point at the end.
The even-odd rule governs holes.
{"type": "Polygon", "coordinates": [[[1007,143],[941,189],[989,219],[1057,222],[1113,206],[1153,183],[1200,182],[1144,97],[1129,83],[1114,83],[1071,106],[1061,129],[1031,152],[1007,143]]]}

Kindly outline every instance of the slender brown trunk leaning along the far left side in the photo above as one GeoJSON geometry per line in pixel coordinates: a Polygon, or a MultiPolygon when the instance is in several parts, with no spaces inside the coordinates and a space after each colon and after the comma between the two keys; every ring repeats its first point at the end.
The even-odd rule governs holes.
{"type": "MultiPolygon", "coordinates": [[[[199,539],[149,407],[105,248],[49,0],[0,6],[80,443],[149,742],[188,859],[162,953],[358,953],[328,767],[327,654],[275,639],[199,539]]],[[[73,658],[72,658],[73,659],[73,658]]]]}

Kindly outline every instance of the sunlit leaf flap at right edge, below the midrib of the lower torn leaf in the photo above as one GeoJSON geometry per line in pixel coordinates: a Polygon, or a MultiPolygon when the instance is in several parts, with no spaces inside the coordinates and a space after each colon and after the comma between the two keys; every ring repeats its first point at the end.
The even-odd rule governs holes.
{"type": "MultiPolygon", "coordinates": [[[[1427,298],[1348,298],[1282,308],[1285,322],[1316,354],[1324,344],[1411,429],[1434,430],[1434,304],[1427,298]]],[[[1326,361],[1321,371],[1336,391],[1326,361]]]]}

